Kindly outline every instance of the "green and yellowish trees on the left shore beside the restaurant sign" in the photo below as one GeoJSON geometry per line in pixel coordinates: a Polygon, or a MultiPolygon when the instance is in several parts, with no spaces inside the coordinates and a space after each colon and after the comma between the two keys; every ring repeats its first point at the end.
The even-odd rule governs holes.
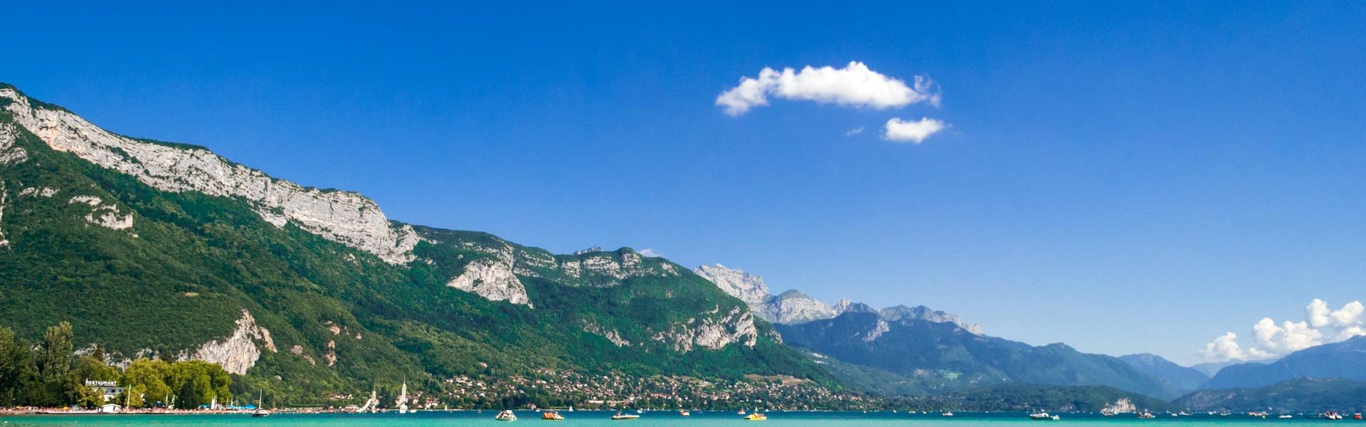
{"type": "Polygon", "coordinates": [[[87,380],[116,382],[124,391],[109,402],[127,406],[194,409],[232,398],[232,376],[214,363],[138,359],[120,370],[104,361],[98,346],[76,354],[71,323],[48,327],[37,342],[0,327],[0,406],[105,404],[87,380]]]}

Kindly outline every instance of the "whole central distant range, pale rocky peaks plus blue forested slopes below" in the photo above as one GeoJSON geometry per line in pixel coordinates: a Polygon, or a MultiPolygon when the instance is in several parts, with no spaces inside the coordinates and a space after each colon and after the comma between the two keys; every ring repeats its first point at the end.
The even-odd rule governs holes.
{"type": "Polygon", "coordinates": [[[758,275],[721,264],[693,270],[775,322],[784,342],[807,349],[847,385],[895,394],[945,393],[996,383],[1113,386],[1162,398],[1205,376],[1161,357],[1121,360],[1063,345],[989,337],[977,324],[928,307],[826,305],[798,290],[769,293],[758,275]],[[1194,376],[1191,376],[1194,375],[1194,376]]]}

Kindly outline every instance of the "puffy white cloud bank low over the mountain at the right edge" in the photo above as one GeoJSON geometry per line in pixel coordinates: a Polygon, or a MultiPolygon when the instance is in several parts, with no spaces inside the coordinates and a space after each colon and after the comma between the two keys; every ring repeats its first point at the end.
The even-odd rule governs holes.
{"type": "Polygon", "coordinates": [[[1244,349],[1238,344],[1236,334],[1227,333],[1206,344],[1199,354],[1208,360],[1273,359],[1315,345],[1366,335],[1363,312],[1366,305],[1361,301],[1347,302],[1335,311],[1324,300],[1314,298],[1305,307],[1303,322],[1285,320],[1277,324],[1272,318],[1262,318],[1253,324],[1253,346],[1244,349]]]}

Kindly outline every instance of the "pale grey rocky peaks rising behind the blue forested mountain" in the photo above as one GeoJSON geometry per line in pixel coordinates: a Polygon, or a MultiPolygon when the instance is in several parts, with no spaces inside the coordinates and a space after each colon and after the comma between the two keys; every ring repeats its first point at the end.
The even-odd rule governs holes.
{"type": "Polygon", "coordinates": [[[955,323],[975,334],[982,333],[982,328],[977,324],[968,324],[955,315],[934,311],[925,305],[896,305],[873,309],[866,304],[852,302],[846,298],[832,307],[795,289],[777,296],[769,294],[769,287],[768,283],[764,282],[764,278],[721,264],[699,266],[693,268],[693,272],[712,281],[721,289],[721,292],[747,302],[750,309],[758,313],[759,318],[772,323],[798,324],[811,320],[831,319],[848,311],[862,311],[881,313],[887,320],[892,322],[919,319],[928,322],[955,323]]]}

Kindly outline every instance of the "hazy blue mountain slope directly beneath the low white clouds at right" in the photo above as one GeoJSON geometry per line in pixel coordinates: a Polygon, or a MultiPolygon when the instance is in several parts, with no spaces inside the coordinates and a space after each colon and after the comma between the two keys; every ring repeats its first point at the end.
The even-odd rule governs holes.
{"type": "Polygon", "coordinates": [[[1366,335],[1311,346],[1268,364],[1225,367],[1201,389],[1262,387],[1300,376],[1366,380],[1366,335]]]}

